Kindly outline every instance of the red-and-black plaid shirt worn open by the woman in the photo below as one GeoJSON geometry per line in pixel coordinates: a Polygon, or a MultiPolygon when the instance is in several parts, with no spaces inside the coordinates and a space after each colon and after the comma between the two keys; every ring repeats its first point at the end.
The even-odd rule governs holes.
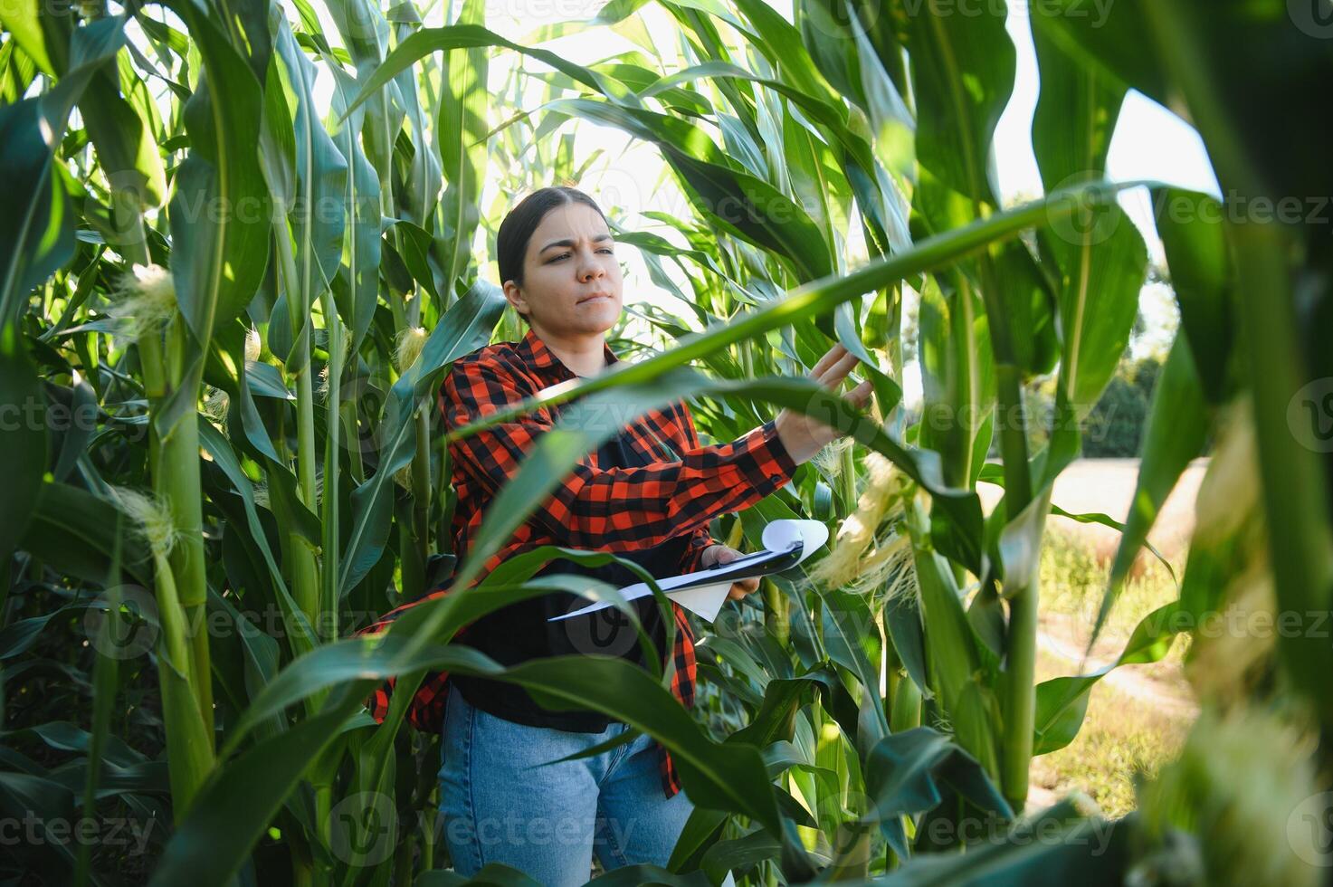
{"type": "MultiPolygon", "coordinates": [[[[607,363],[620,359],[604,345],[607,363]]],[[[575,379],[529,328],[519,343],[503,341],[480,348],[455,361],[440,391],[445,427],[461,428],[539,391],[575,379]]],[[[453,551],[460,560],[481,528],[487,504],[519,471],[536,439],[551,429],[560,405],[541,408],[500,423],[449,444],[457,506],[453,512],[453,551]]],[[[513,538],[492,556],[477,582],[524,551],[563,546],[589,551],[625,552],[656,546],[681,535],[690,540],[681,559],[681,572],[698,568],[700,556],[717,540],[709,536],[713,518],[749,508],[786,484],[796,463],[766,421],[726,444],[704,447],[684,401],[644,413],[627,425],[632,443],[644,452],[663,452],[661,441],[678,454],[677,460],[657,459],[639,468],[599,470],[593,455],[584,456],[513,538]]],[[[439,598],[440,588],[420,600],[403,604],[357,634],[379,634],[409,607],[439,598]]],[[[685,611],[672,602],[676,616],[676,674],[672,694],[690,708],[694,704],[694,638],[685,611]]],[[[460,638],[467,630],[459,632],[460,638]]],[[[448,699],[448,672],[428,674],[408,711],[419,730],[439,732],[448,699]]],[[[383,722],[389,708],[391,679],[369,700],[371,714],[383,722]]],[[[670,754],[659,743],[663,791],[670,798],[680,782],[670,754]]]]}

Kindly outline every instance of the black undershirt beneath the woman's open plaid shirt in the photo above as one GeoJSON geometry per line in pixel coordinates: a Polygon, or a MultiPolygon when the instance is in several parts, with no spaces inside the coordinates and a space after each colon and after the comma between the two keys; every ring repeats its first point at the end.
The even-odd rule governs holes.
{"type": "MultiPolygon", "coordinates": [[[[633,468],[649,464],[652,460],[652,454],[635,451],[625,432],[597,450],[600,468],[633,468]]],[[[652,576],[664,579],[680,572],[680,562],[688,542],[689,536],[682,535],[657,546],[616,555],[637,563],[652,576]]],[[[615,588],[641,582],[639,576],[616,563],[583,567],[564,559],[552,560],[535,575],[555,574],[595,576],[615,588]]],[[[635,627],[616,607],[604,607],[597,612],[560,622],[547,622],[551,616],[579,610],[588,603],[591,602],[587,598],[567,591],[521,600],[476,620],[459,642],[476,647],[503,666],[545,656],[600,654],[621,656],[647,667],[643,644],[635,627]]],[[[665,630],[656,598],[647,595],[631,602],[631,606],[637,610],[644,632],[656,644],[659,655],[666,656],[669,651],[664,650],[665,630]]],[[[515,723],[573,732],[603,732],[612,723],[619,723],[589,708],[548,711],[519,684],[460,674],[449,675],[449,680],[457,684],[469,704],[515,723]]]]}

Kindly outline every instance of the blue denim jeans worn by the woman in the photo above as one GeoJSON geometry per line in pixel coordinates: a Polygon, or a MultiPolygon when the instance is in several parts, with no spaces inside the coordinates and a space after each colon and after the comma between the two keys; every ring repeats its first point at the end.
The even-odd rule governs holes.
{"type": "Polygon", "coordinates": [[[517,724],[471,706],[457,687],[445,704],[440,814],[453,870],[472,876],[504,863],[549,887],[585,884],[597,852],[611,871],[666,866],[693,804],[663,795],[652,736],[592,758],[551,763],[623,734],[517,724]]]}

